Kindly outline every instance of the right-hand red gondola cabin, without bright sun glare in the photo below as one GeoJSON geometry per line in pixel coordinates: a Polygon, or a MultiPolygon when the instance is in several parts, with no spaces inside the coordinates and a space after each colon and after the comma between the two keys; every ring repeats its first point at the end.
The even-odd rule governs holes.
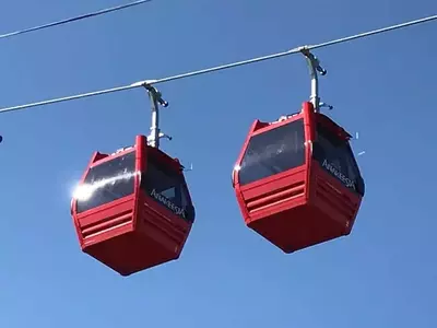
{"type": "Polygon", "coordinates": [[[256,120],[233,171],[246,224],[285,253],[349,235],[365,187],[350,138],[307,102],[256,120]]]}

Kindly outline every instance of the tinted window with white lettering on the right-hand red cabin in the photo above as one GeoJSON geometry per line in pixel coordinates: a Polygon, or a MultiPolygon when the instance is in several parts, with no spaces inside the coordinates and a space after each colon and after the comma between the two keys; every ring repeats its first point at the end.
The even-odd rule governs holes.
{"type": "Polygon", "coordinates": [[[336,177],[344,186],[364,195],[364,181],[349,141],[341,140],[319,124],[312,155],[327,172],[336,177]]]}

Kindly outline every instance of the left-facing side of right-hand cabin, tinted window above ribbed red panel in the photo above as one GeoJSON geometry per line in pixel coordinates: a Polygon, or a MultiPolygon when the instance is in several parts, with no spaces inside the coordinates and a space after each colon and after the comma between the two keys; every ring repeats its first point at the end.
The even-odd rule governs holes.
{"type": "Polygon", "coordinates": [[[303,116],[253,131],[243,153],[238,185],[249,214],[247,223],[305,203],[307,167],[303,116]],[[248,169],[245,156],[246,163],[253,162],[255,166],[241,181],[248,169]]]}

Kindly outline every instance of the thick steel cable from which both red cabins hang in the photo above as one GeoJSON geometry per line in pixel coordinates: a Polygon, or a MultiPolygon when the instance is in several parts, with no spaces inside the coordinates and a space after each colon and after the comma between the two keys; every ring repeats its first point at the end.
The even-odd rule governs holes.
{"type": "Polygon", "coordinates": [[[317,48],[330,47],[330,46],[338,45],[338,44],[341,44],[341,43],[347,43],[347,42],[351,42],[351,40],[354,40],[354,39],[364,38],[364,37],[368,37],[368,36],[371,36],[371,35],[381,34],[381,33],[386,33],[386,32],[390,32],[390,31],[394,31],[394,30],[399,30],[399,28],[404,28],[404,27],[409,27],[409,26],[412,26],[412,25],[417,25],[417,24],[430,22],[430,21],[434,21],[434,20],[437,20],[437,15],[432,15],[432,16],[427,16],[427,17],[424,17],[424,19],[405,22],[405,23],[402,23],[402,24],[397,24],[397,25],[392,25],[392,26],[388,26],[388,27],[383,27],[383,28],[379,28],[379,30],[374,30],[374,31],[369,31],[369,32],[365,32],[365,33],[361,33],[361,34],[355,34],[355,35],[352,35],[352,36],[342,37],[342,38],[324,42],[324,43],[321,43],[321,44],[316,44],[316,45],[305,46],[305,47],[297,47],[297,48],[293,48],[293,49],[287,50],[287,51],[282,51],[282,52],[276,52],[276,54],[272,54],[272,55],[268,55],[268,56],[257,57],[257,58],[252,58],[252,59],[248,59],[248,60],[237,61],[237,62],[222,65],[222,66],[216,66],[216,67],[212,67],[212,68],[208,68],[208,69],[203,69],[203,70],[191,71],[191,72],[177,74],[177,75],[172,75],[172,77],[163,78],[163,79],[158,79],[158,80],[145,80],[145,81],[135,82],[135,83],[132,83],[130,85],[125,85],[125,86],[117,86],[117,87],[99,90],[99,91],[94,91],[94,92],[88,92],[88,93],[83,93],[83,94],[78,94],[78,95],[72,95],[72,96],[52,98],[52,99],[47,99],[47,101],[42,101],[42,102],[36,102],[36,103],[27,103],[27,104],[19,105],[19,106],[4,107],[4,108],[0,108],[0,113],[20,110],[20,109],[37,107],[37,106],[44,106],[44,105],[50,105],[50,104],[55,104],[55,103],[68,102],[68,101],[73,101],[73,99],[79,99],[79,98],[84,98],[84,97],[90,97],[90,96],[96,96],[96,95],[102,95],[102,94],[107,94],[107,93],[126,91],[126,90],[130,90],[130,89],[144,86],[145,84],[153,85],[153,84],[158,84],[158,83],[164,83],[164,82],[169,82],[169,81],[191,78],[191,77],[194,77],[194,75],[212,73],[212,72],[216,72],[216,71],[221,71],[221,70],[225,70],[225,69],[236,68],[236,67],[239,67],[239,66],[250,65],[250,63],[260,62],[260,61],[264,61],[264,60],[270,60],[270,59],[274,59],[274,58],[279,58],[279,57],[290,56],[290,55],[293,55],[293,54],[298,54],[298,52],[302,52],[303,48],[306,48],[308,50],[312,50],[312,49],[317,49],[317,48]]]}

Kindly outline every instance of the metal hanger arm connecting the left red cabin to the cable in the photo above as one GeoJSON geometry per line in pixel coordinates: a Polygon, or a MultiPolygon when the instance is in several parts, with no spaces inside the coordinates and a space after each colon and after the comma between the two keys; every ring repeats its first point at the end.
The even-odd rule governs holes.
{"type": "Polygon", "coordinates": [[[151,132],[147,136],[147,143],[151,147],[154,148],[160,148],[160,139],[161,138],[166,138],[168,140],[172,140],[173,138],[170,136],[167,136],[163,132],[161,132],[160,129],[160,105],[163,107],[168,107],[168,102],[166,102],[162,93],[156,90],[151,83],[153,81],[142,81],[140,82],[140,85],[144,86],[145,90],[149,93],[149,98],[151,101],[151,109],[152,109],[152,125],[151,125],[151,132]]]}

